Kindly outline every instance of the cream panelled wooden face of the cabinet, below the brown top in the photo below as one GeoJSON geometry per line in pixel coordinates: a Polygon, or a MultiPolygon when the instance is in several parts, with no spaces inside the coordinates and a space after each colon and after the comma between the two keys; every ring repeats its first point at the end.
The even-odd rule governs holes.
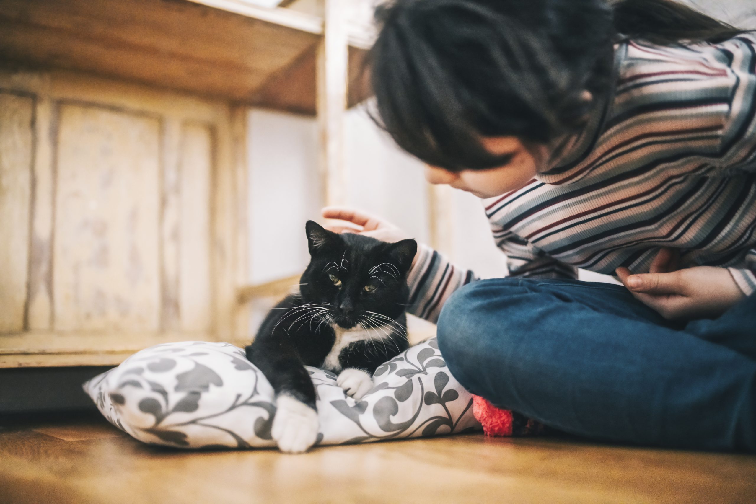
{"type": "Polygon", "coordinates": [[[222,100],[0,71],[0,366],[246,335],[245,121],[222,100]]]}

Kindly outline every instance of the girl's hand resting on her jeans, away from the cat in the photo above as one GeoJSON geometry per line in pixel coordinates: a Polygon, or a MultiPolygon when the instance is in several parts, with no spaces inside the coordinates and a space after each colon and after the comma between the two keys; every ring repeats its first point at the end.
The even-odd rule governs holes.
{"type": "Polygon", "coordinates": [[[718,317],[744,294],[727,268],[696,266],[677,269],[677,252],[661,249],[647,274],[618,267],[617,276],[638,301],[669,320],[718,317]]]}

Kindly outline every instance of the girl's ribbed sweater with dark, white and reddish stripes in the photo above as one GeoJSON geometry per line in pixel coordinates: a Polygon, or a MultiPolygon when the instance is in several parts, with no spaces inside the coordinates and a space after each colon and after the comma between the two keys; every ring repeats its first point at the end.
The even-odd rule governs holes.
{"type": "MultiPolygon", "coordinates": [[[[578,267],[728,267],[756,290],[756,36],[668,48],[615,46],[612,93],[525,187],[482,199],[510,276],[577,278],[578,267]]],[[[438,319],[475,279],[421,246],[411,313],[438,319]]]]}

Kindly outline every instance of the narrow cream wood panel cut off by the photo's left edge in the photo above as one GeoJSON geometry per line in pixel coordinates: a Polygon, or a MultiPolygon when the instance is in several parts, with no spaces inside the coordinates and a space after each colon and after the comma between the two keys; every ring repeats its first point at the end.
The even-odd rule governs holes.
{"type": "Polygon", "coordinates": [[[0,93],[0,332],[23,330],[34,100],[0,93]]]}

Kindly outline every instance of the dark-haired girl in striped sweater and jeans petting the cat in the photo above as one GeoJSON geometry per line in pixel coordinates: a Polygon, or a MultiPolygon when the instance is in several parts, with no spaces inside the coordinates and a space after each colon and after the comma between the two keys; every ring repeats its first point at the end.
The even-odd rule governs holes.
{"type": "Polygon", "coordinates": [[[508,258],[509,277],[473,282],[415,257],[410,311],[438,321],[454,376],[590,438],[756,451],[756,36],[672,0],[376,17],[376,120],[429,182],[482,198],[508,258]]]}

